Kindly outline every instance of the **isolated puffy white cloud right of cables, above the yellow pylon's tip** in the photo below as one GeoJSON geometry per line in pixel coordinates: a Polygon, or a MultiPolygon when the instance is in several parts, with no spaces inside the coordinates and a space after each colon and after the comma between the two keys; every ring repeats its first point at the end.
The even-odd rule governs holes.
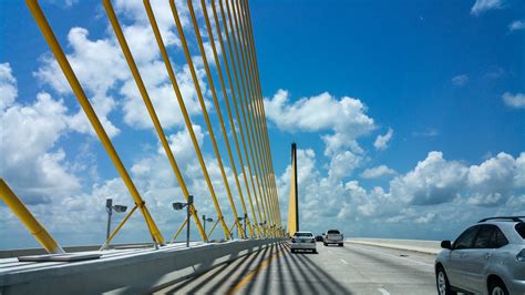
{"type": "Polygon", "coordinates": [[[356,140],[375,129],[360,100],[349,96],[337,100],[328,92],[290,102],[289,93],[279,90],[274,98],[265,99],[265,110],[267,118],[284,131],[331,130],[333,133],[322,135],[326,155],[347,149],[359,152],[356,140]]]}

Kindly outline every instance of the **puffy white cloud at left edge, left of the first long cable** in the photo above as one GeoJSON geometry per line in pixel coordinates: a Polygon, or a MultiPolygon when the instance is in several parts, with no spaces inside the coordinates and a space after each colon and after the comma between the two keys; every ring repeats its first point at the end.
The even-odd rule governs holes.
{"type": "Polygon", "coordinates": [[[64,151],[52,151],[68,131],[69,120],[63,102],[43,92],[33,104],[13,104],[0,112],[0,174],[30,204],[80,190],[79,179],[66,167],[64,151]]]}

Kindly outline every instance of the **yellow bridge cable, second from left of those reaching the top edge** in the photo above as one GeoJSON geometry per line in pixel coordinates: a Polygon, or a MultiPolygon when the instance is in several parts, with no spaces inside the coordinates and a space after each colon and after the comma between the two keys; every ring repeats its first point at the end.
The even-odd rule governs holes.
{"type": "MultiPolygon", "coordinates": [[[[159,139],[159,141],[162,143],[162,146],[164,149],[164,152],[166,153],[166,156],[169,161],[172,170],[175,173],[175,176],[178,181],[181,190],[183,191],[183,194],[184,194],[184,196],[187,201],[188,196],[189,196],[189,192],[186,187],[186,183],[185,183],[185,181],[182,176],[182,173],[181,173],[181,170],[177,165],[175,156],[173,155],[172,149],[169,148],[169,143],[166,140],[166,134],[164,133],[161,121],[158,120],[158,116],[155,112],[153,103],[152,103],[152,101],[150,99],[150,95],[147,93],[146,87],[144,85],[144,81],[142,80],[138,68],[136,67],[135,60],[133,58],[133,54],[131,53],[130,47],[127,45],[127,41],[124,37],[122,28],[119,23],[119,19],[115,14],[115,11],[114,11],[113,6],[111,4],[110,0],[104,0],[104,8],[106,10],[107,17],[109,17],[110,22],[112,24],[113,31],[115,32],[116,39],[119,40],[119,43],[120,43],[120,47],[121,47],[122,52],[124,54],[124,58],[126,59],[127,65],[130,67],[130,70],[133,74],[135,83],[138,88],[141,96],[144,101],[144,104],[146,105],[150,118],[152,119],[155,131],[157,132],[158,139],[159,139]]],[[[195,211],[196,211],[195,206],[192,204],[192,207],[189,210],[191,210],[191,215],[194,215],[194,217],[195,217],[194,220],[195,220],[195,223],[197,225],[197,228],[198,228],[198,232],[199,232],[202,238],[204,241],[206,241],[207,236],[206,236],[206,233],[203,230],[203,225],[200,224],[200,218],[198,218],[197,214],[195,214],[195,211]]]]}

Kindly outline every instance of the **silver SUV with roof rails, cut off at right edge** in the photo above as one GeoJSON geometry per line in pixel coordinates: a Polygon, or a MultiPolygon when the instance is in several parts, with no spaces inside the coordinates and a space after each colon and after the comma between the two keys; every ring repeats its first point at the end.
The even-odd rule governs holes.
{"type": "Polygon", "coordinates": [[[524,216],[481,220],[464,231],[435,260],[435,281],[441,295],[525,294],[524,216]]]}

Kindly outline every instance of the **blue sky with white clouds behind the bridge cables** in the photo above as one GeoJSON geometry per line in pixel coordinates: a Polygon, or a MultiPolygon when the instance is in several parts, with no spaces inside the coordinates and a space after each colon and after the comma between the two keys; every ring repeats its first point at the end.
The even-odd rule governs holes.
{"type": "MultiPolygon", "coordinates": [[[[158,152],[102,4],[42,2],[115,148],[169,236],[182,221],[168,208],[181,197],[178,184],[158,152]]],[[[177,4],[187,20],[185,4],[177,4]]],[[[0,175],[63,244],[101,243],[105,197],[126,204],[131,197],[24,3],[0,6],[0,175]]],[[[154,2],[154,10],[177,77],[187,85],[185,100],[220,191],[176,28],[162,6],[154,2]]],[[[216,215],[142,1],[115,1],[115,9],[133,39],[132,52],[175,157],[186,169],[191,190],[202,196],[197,210],[216,215]]],[[[292,141],[300,149],[303,228],[453,238],[477,218],[523,215],[523,1],[251,1],[250,13],[285,220],[292,141]]],[[[198,61],[187,22],[185,30],[198,61]]],[[[196,63],[219,133],[203,65],[196,63]]],[[[224,140],[218,141],[226,159],[224,140]]],[[[224,192],[219,201],[228,216],[224,192]]],[[[35,245],[3,205],[0,213],[0,232],[8,236],[0,247],[35,245]]],[[[140,216],[119,236],[121,242],[145,240],[140,216]]]]}

